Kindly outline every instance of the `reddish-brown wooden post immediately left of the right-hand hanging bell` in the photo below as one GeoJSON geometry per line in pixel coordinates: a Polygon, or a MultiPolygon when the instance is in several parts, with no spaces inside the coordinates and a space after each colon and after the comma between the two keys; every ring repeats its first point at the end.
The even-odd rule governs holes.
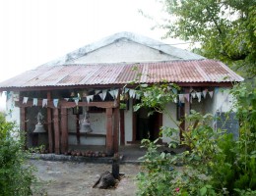
{"type": "Polygon", "coordinates": [[[61,108],[61,153],[68,151],[68,113],[66,108],[61,108]]]}

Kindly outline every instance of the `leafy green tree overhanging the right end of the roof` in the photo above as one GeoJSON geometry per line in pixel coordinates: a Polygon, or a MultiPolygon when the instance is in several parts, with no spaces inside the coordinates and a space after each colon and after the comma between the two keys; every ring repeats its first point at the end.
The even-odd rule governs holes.
{"type": "Polygon", "coordinates": [[[200,42],[195,52],[256,75],[255,0],[163,0],[166,37],[200,42]]]}

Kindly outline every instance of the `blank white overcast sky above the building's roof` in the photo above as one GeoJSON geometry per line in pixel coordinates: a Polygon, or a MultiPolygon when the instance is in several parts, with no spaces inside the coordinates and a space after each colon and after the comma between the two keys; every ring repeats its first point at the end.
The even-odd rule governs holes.
{"type": "Polygon", "coordinates": [[[0,0],[0,82],[116,32],[160,40],[152,27],[165,16],[158,0],[0,0]]]}

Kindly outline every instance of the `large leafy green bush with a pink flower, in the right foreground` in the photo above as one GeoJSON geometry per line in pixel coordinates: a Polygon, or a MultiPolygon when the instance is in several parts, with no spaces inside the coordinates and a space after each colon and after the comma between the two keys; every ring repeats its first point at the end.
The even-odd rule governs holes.
{"type": "MultiPolygon", "coordinates": [[[[231,93],[239,138],[214,130],[209,125],[211,115],[191,111],[181,143],[188,151],[160,153],[157,141],[143,140],[148,152],[137,176],[139,195],[256,195],[256,90],[238,85],[231,93]]],[[[171,136],[178,130],[163,127],[162,131],[171,136]]]]}

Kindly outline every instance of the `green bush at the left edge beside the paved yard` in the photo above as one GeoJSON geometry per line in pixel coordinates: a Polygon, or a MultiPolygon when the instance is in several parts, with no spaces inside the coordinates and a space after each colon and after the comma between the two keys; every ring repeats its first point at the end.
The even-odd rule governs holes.
{"type": "Polygon", "coordinates": [[[16,136],[15,123],[7,123],[0,114],[0,195],[32,195],[33,169],[27,165],[23,137],[16,136]]]}

